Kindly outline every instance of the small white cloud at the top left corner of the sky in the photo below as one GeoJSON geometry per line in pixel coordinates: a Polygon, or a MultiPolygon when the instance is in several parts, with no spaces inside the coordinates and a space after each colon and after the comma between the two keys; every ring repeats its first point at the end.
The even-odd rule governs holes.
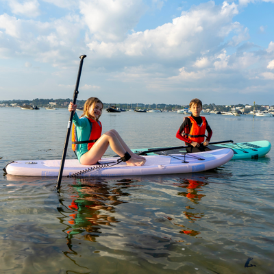
{"type": "Polygon", "coordinates": [[[16,0],[8,0],[8,3],[13,14],[21,14],[28,17],[40,15],[39,3],[37,0],[25,1],[24,3],[19,3],[16,0]]]}

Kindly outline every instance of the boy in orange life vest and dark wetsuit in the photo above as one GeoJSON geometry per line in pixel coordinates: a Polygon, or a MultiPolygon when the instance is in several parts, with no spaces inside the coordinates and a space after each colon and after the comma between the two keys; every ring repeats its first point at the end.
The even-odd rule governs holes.
{"type": "Polygon", "coordinates": [[[187,147],[186,151],[190,152],[200,152],[209,151],[207,147],[208,142],[212,136],[212,129],[208,125],[208,121],[203,116],[200,116],[202,110],[201,100],[195,98],[189,103],[191,116],[184,117],[184,122],[179,127],[176,137],[186,143],[186,145],[191,145],[187,147]],[[208,136],[206,136],[206,131],[208,136]],[[205,141],[206,137],[206,141],[205,141]]]}

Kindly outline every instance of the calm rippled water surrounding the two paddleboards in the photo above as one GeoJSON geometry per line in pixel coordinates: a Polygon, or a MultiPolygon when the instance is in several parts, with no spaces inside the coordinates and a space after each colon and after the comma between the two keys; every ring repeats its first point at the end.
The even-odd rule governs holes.
{"type": "MultiPolygon", "coordinates": [[[[129,147],[162,147],[182,145],[183,117],[104,112],[101,122],[129,147]]],[[[274,117],[206,118],[212,142],[274,144],[274,117]]],[[[67,110],[0,108],[1,168],[61,158],[68,121],[67,110]]],[[[1,171],[0,273],[274,273],[273,159],[274,149],[203,173],[63,178],[60,195],[57,178],[1,171]]]]}

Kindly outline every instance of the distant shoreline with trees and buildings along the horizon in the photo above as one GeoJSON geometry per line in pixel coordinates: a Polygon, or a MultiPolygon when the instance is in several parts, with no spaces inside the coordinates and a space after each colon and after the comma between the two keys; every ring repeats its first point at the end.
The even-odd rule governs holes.
{"type": "MultiPolygon", "coordinates": [[[[39,108],[47,107],[48,105],[51,105],[52,103],[55,103],[55,107],[58,108],[67,108],[69,105],[69,102],[72,101],[70,98],[67,99],[34,99],[34,100],[3,100],[0,101],[0,105],[6,105],[6,106],[16,106],[16,105],[37,105],[39,108]]],[[[86,100],[77,100],[78,107],[83,107],[86,100]]],[[[144,103],[104,103],[104,108],[108,108],[111,105],[115,105],[117,108],[122,108],[124,110],[129,109],[150,109],[150,110],[180,110],[182,108],[189,108],[189,105],[177,105],[177,104],[164,104],[164,103],[152,103],[152,104],[144,104],[144,103]]],[[[243,104],[237,104],[237,105],[216,105],[214,103],[210,104],[204,104],[203,110],[214,110],[214,111],[220,111],[220,112],[229,112],[231,108],[240,108],[244,109],[245,113],[250,112],[253,110],[253,105],[249,108],[246,108],[247,105],[243,104]]],[[[265,110],[266,105],[255,105],[255,109],[262,111],[265,110]]]]}

